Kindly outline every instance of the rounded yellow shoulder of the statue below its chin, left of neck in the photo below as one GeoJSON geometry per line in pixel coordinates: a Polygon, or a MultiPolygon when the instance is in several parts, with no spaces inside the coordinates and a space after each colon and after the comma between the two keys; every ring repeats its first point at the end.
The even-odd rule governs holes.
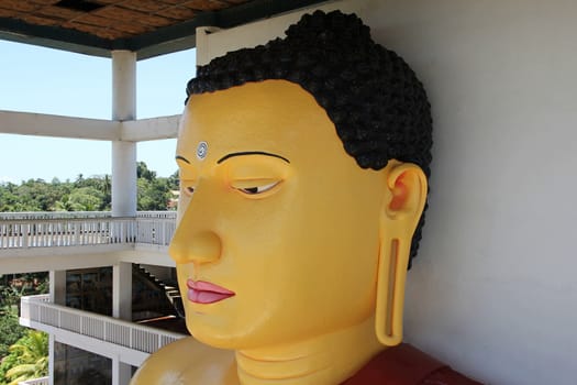
{"type": "Polygon", "coordinates": [[[235,385],[236,378],[234,352],[187,337],[152,354],[136,371],[131,385],[235,385]]]}

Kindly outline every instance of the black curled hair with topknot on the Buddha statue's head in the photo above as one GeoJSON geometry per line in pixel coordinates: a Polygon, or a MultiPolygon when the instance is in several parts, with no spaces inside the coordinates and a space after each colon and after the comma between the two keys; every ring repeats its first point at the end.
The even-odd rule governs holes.
{"type": "MultiPolygon", "coordinates": [[[[398,160],[419,165],[430,176],[431,107],[421,81],[400,56],[375,43],[358,16],[340,11],[306,14],[286,35],[199,67],[187,85],[187,100],[248,81],[289,80],[325,109],[358,166],[381,169],[398,160]]],[[[423,224],[424,212],[410,261],[423,224]]]]}

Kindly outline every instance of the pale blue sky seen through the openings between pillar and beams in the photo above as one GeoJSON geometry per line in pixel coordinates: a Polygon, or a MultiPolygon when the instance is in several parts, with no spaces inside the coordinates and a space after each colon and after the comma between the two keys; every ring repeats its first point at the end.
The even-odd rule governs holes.
{"type": "MultiPolygon", "coordinates": [[[[111,59],[5,41],[0,58],[0,110],[110,119],[111,59]]],[[[180,113],[195,63],[195,50],[137,62],[137,118],[180,113]]],[[[175,145],[138,143],[137,160],[168,176],[176,170],[175,145]]],[[[0,134],[0,182],[110,173],[110,142],[0,134]]]]}

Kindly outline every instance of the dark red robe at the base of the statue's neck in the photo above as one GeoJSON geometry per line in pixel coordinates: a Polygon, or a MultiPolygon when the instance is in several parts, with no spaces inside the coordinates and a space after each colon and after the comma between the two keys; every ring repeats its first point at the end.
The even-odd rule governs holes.
{"type": "Polygon", "coordinates": [[[480,385],[408,343],[384,350],[341,385],[480,385]]]}

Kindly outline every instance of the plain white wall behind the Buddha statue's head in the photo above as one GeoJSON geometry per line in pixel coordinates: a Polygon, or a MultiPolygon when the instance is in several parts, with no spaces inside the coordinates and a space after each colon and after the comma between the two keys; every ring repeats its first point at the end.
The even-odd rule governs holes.
{"type": "MultiPolygon", "coordinates": [[[[485,383],[576,384],[577,2],[328,8],[337,7],[411,64],[433,106],[430,210],[406,340],[485,383]]],[[[213,41],[264,43],[297,19],[213,41]]]]}

